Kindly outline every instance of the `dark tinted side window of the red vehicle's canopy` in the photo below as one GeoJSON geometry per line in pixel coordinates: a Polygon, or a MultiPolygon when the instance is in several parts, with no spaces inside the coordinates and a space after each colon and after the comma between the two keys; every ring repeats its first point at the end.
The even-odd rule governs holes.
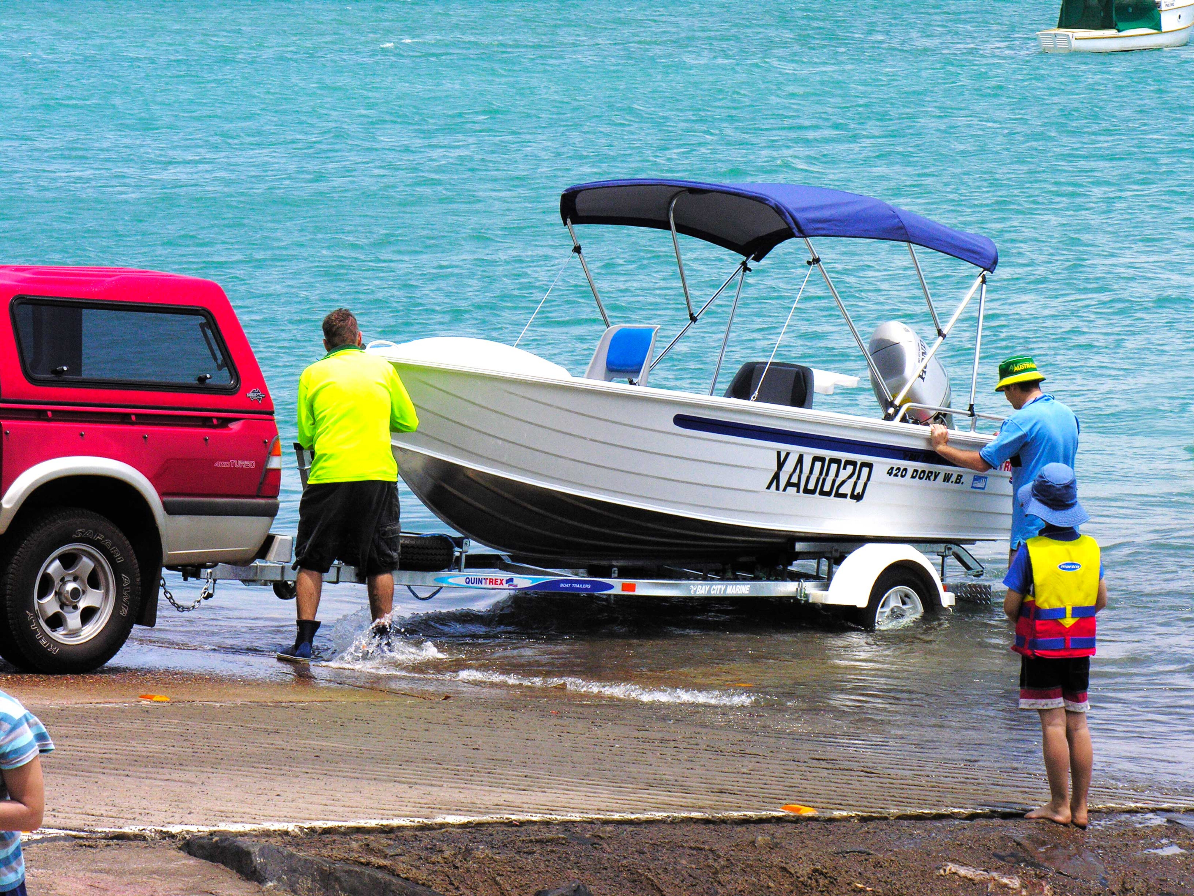
{"type": "Polygon", "coordinates": [[[199,308],[18,299],[17,344],[32,380],[228,389],[235,372],[199,308]]]}

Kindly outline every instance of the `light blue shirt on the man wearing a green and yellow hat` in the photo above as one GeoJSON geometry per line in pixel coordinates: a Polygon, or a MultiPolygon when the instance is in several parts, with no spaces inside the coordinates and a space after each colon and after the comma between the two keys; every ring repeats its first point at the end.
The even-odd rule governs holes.
{"type": "Polygon", "coordinates": [[[1011,550],[1039,534],[1045,524],[1024,514],[1016,499],[1020,486],[1030,483],[1046,464],[1073,467],[1078,453],[1078,418],[1052,395],[1041,395],[1008,417],[999,434],[979,455],[987,466],[998,470],[1018,458],[1011,466],[1011,550]]]}

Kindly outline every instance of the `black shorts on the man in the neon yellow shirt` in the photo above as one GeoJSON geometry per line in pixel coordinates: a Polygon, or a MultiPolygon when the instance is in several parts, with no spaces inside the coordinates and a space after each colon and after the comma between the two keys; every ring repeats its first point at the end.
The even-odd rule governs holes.
{"type": "Polygon", "coordinates": [[[398,569],[401,550],[398,483],[308,485],[298,503],[295,566],[327,572],[333,560],[365,576],[398,569]]]}

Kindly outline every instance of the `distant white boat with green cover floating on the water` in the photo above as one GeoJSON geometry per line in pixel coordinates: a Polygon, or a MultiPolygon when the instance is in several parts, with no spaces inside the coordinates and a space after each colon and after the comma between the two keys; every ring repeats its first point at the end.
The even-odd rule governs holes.
{"type": "Polygon", "coordinates": [[[1184,47],[1194,0],[1063,0],[1057,27],[1038,31],[1045,53],[1116,53],[1184,47]]]}

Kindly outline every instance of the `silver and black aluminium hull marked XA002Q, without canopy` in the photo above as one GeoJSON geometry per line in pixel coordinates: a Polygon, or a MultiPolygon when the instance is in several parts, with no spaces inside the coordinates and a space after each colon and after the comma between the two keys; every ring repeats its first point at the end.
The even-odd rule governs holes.
{"type": "Polygon", "coordinates": [[[390,360],[419,415],[394,436],[404,480],[449,526],[519,557],[726,560],[793,540],[1008,535],[1009,475],[947,464],[923,426],[390,360]]]}

